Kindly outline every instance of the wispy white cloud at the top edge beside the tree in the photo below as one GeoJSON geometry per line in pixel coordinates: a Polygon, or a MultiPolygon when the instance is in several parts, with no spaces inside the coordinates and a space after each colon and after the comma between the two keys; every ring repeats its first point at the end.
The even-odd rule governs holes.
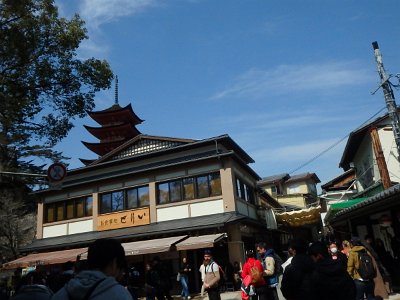
{"type": "Polygon", "coordinates": [[[156,0],[85,0],[80,6],[80,14],[89,28],[98,28],[103,23],[137,14],[156,5],[156,0]]]}

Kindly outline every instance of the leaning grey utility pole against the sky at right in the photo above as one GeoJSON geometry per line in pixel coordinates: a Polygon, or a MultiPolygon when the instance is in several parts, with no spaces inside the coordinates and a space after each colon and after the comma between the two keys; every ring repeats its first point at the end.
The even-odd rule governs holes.
{"type": "Polygon", "coordinates": [[[393,134],[394,134],[394,139],[396,141],[396,146],[397,146],[397,160],[399,160],[400,156],[400,119],[399,116],[397,115],[397,105],[394,100],[394,94],[393,94],[393,89],[391,86],[391,83],[389,81],[389,78],[386,75],[385,68],[383,67],[383,62],[382,62],[382,55],[379,50],[378,42],[373,42],[372,47],[374,48],[374,53],[375,53],[375,60],[378,66],[378,73],[381,78],[381,87],[383,89],[383,94],[385,96],[385,102],[386,102],[386,108],[388,110],[389,117],[392,121],[392,128],[393,128],[393,134]]]}

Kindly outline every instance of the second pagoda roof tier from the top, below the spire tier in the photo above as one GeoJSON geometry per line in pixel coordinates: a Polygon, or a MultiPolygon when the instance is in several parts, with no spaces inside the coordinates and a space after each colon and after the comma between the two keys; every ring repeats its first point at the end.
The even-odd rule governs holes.
{"type": "Polygon", "coordinates": [[[109,125],[102,127],[91,127],[83,125],[87,131],[89,131],[93,136],[99,140],[114,140],[124,138],[129,140],[140,134],[140,131],[131,123],[119,124],[119,125],[109,125]]]}

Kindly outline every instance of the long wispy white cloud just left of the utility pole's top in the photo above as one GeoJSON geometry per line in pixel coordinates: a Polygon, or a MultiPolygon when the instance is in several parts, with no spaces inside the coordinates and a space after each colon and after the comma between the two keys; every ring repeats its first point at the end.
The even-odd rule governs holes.
{"type": "Polygon", "coordinates": [[[356,62],[309,65],[280,65],[275,69],[250,69],[211,99],[260,97],[301,91],[323,91],[355,86],[373,80],[373,75],[356,62]]]}

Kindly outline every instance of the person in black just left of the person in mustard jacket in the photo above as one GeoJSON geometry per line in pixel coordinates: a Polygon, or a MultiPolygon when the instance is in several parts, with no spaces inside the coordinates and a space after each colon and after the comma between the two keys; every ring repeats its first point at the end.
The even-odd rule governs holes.
{"type": "Polygon", "coordinates": [[[312,243],[308,254],[315,262],[315,269],[311,274],[311,299],[355,299],[356,287],[352,278],[340,260],[331,259],[324,243],[312,243]]]}

